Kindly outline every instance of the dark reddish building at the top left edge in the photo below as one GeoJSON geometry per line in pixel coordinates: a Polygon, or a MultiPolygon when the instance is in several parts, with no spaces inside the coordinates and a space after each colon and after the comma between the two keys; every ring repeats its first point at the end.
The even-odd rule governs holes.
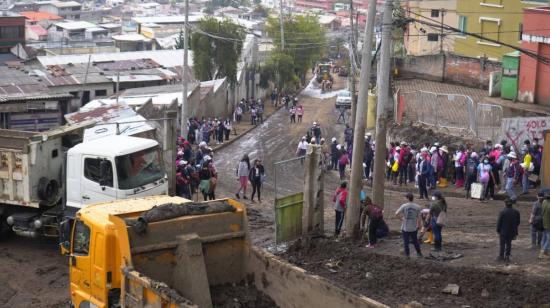
{"type": "Polygon", "coordinates": [[[17,44],[25,45],[25,17],[2,11],[0,15],[0,53],[9,53],[17,44]]]}

